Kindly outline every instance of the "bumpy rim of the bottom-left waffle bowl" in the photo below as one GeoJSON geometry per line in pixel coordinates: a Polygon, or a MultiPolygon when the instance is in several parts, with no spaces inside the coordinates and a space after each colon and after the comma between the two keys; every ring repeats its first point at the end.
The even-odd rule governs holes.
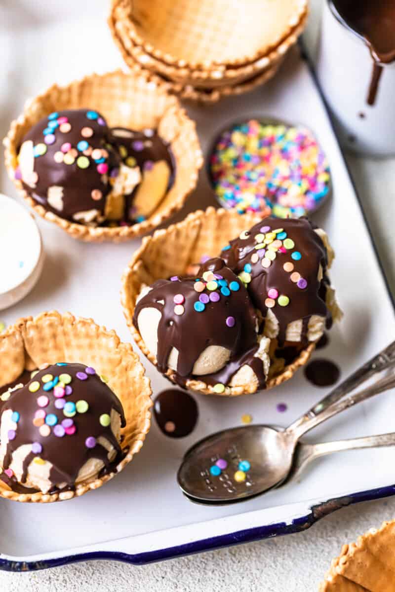
{"type": "MultiPolygon", "coordinates": [[[[54,501],[66,501],[70,500],[75,497],[81,497],[88,491],[92,491],[98,489],[111,479],[115,477],[118,473],[123,471],[123,469],[128,465],[134,455],[140,451],[143,446],[144,440],[146,438],[147,433],[150,430],[151,420],[152,420],[152,413],[151,408],[153,406],[152,401],[152,389],[150,384],[149,377],[146,376],[146,371],[143,364],[140,362],[139,356],[136,352],[133,351],[131,348],[130,343],[121,342],[120,338],[118,337],[117,333],[114,330],[107,330],[104,326],[99,326],[92,320],[92,318],[85,318],[85,317],[77,317],[73,316],[71,313],[60,314],[57,311],[49,311],[40,313],[35,317],[21,317],[14,324],[7,327],[4,332],[0,335],[0,343],[2,340],[7,339],[14,334],[20,334],[21,339],[24,341],[23,338],[23,330],[27,326],[28,323],[38,323],[43,318],[49,319],[53,318],[54,320],[60,321],[71,321],[74,324],[78,323],[89,323],[90,326],[95,327],[99,334],[104,335],[108,338],[113,338],[117,342],[116,348],[122,352],[123,356],[129,356],[133,361],[134,367],[139,367],[139,374],[142,382],[142,394],[144,396],[144,400],[146,401],[146,405],[144,408],[144,422],[142,423],[142,428],[139,431],[139,434],[134,436],[133,441],[131,442],[130,446],[128,446],[128,451],[126,456],[117,464],[117,471],[110,472],[107,475],[103,475],[102,477],[90,478],[88,481],[83,481],[75,486],[75,489],[70,491],[59,491],[53,494],[50,493],[42,493],[41,491],[36,491],[34,493],[18,493],[14,490],[9,490],[7,485],[3,481],[0,480],[0,497],[5,498],[7,500],[12,501],[20,501],[21,503],[52,503],[54,501]]],[[[25,353],[27,353],[25,351],[25,353]]],[[[117,393],[115,393],[117,394],[117,393]]],[[[118,396],[118,395],[117,395],[118,396]]],[[[119,397],[121,403],[124,400],[124,397],[119,397]]],[[[127,420],[127,418],[126,418],[127,420]]],[[[126,424],[127,425],[127,424],[126,424]]],[[[125,428],[123,428],[124,430],[125,428]]],[[[121,445],[122,448],[122,445],[121,445]]]]}

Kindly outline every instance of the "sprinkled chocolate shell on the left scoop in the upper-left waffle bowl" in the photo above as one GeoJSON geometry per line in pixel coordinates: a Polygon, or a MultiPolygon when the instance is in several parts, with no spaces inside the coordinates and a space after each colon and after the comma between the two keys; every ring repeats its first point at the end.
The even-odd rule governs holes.
{"type": "Polygon", "coordinates": [[[28,194],[61,218],[73,220],[73,215],[91,210],[103,214],[111,190],[108,177],[117,175],[120,163],[117,153],[105,146],[107,136],[107,124],[97,111],[69,109],[50,114],[22,141],[21,147],[27,141],[33,143],[33,176],[27,178],[22,169],[16,176],[22,173],[28,194]],[[51,198],[51,191],[60,197],[51,198]]]}

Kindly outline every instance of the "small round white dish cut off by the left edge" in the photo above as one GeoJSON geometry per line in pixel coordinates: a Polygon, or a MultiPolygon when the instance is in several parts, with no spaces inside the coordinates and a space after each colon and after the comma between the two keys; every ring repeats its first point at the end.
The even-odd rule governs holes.
{"type": "Polygon", "coordinates": [[[0,194],[0,310],[22,300],[36,285],[44,264],[41,234],[31,214],[0,194]]]}

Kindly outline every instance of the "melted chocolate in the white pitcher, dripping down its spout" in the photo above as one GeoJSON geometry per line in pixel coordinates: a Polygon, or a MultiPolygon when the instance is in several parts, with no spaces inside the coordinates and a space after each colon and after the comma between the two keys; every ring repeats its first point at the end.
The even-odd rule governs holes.
{"type": "Polygon", "coordinates": [[[367,97],[374,105],[382,64],[395,60],[395,2],[393,0],[331,0],[330,6],[341,20],[367,44],[373,70],[367,97]]]}

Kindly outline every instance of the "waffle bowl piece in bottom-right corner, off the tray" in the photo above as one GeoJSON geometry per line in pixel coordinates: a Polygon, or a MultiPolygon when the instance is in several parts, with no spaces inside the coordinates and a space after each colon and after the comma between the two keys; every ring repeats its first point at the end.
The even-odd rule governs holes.
{"type": "Polygon", "coordinates": [[[319,592],[393,592],[395,520],[371,529],[356,543],[343,545],[319,592]]]}

